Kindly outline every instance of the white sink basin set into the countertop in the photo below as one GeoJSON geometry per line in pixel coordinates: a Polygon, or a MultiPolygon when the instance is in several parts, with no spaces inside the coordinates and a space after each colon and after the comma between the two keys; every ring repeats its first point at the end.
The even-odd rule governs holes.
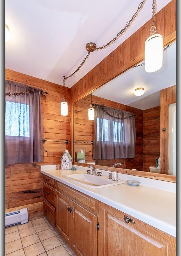
{"type": "Polygon", "coordinates": [[[64,175],[63,177],[89,188],[104,188],[125,183],[124,180],[113,181],[109,180],[107,176],[94,176],[84,173],[64,175]]]}

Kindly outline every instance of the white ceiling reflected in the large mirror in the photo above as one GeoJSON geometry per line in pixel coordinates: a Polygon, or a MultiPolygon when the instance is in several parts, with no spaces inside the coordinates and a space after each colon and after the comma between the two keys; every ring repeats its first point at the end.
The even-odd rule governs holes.
{"type": "Polygon", "coordinates": [[[131,68],[94,91],[93,95],[144,110],[159,106],[158,94],[153,93],[173,85],[176,85],[176,41],[163,52],[163,66],[158,71],[147,73],[144,66],[131,68]],[[134,95],[138,87],[145,89],[139,97],[134,95]]]}

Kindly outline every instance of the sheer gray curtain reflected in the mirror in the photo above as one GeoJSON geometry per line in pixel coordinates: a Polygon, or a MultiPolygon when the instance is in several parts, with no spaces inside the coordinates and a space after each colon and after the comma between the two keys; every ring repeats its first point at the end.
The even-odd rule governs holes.
{"type": "Polygon", "coordinates": [[[135,119],[130,112],[94,105],[93,159],[135,157],[135,119]]]}

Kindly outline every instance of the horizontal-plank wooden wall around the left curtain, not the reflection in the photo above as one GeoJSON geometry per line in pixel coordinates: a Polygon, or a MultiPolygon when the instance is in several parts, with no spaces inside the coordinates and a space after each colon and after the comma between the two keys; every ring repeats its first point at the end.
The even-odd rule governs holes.
{"type": "MultiPolygon", "coordinates": [[[[30,86],[47,91],[46,99],[42,96],[44,138],[70,140],[63,142],[46,142],[44,144],[44,162],[6,165],[6,209],[15,207],[28,208],[30,219],[43,213],[42,190],[43,179],[40,164],[60,163],[60,157],[65,149],[71,152],[70,109],[68,116],[60,115],[60,102],[63,96],[63,86],[32,76],[6,69],[6,80],[26,83],[30,86]]],[[[70,89],[66,88],[66,100],[70,107],[70,89]]]]}

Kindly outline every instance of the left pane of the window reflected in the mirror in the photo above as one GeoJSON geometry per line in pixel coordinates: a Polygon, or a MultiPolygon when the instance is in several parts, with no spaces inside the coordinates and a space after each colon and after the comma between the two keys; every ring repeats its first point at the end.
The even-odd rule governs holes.
{"type": "Polygon", "coordinates": [[[97,141],[110,141],[110,120],[97,118],[97,141]]]}

